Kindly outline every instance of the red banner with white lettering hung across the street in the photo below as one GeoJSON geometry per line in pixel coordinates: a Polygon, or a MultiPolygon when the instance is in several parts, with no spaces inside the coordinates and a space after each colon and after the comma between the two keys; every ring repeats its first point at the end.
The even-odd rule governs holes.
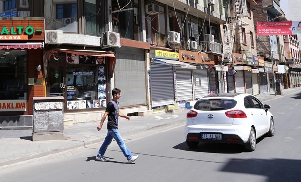
{"type": "Polygon", "coordinates": [[[291,35],[292,21],[257,22],[257,35],[291,35]]]}

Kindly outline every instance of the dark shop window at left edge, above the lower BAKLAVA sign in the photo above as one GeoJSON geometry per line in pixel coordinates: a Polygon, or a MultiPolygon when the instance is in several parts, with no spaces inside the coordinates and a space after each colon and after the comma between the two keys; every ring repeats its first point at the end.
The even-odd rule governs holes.
{"type": "Polygon", "coordinates": [[[25,50],[0,50],[0,100],[26,100],[25,50]]]}

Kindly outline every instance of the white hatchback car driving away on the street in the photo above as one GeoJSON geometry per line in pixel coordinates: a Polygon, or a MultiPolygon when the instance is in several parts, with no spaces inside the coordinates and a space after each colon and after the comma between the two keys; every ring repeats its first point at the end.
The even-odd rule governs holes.
{"type": "Polygon", "coordinates": [[[251,94],[204,96],[187,113],[186,143],[191,148],[199,142],[244,144],[254,151],[257,138],[274,136],[274,117],[268,109],[251,94]]]}

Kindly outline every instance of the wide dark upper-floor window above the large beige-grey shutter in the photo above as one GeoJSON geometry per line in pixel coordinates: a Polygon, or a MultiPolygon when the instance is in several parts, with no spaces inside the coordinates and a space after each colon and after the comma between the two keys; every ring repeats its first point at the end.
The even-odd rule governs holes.
{"type": "Polygon", "coordinates": [[[122,38],[140,40],[139,0],[112,0],[113,31],[122,38]]]}

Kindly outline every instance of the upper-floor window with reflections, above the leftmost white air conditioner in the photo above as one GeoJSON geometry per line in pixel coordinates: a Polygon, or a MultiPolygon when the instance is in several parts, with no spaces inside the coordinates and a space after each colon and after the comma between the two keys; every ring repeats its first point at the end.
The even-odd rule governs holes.
{"type": "Polygon", "coordinates": [[[77,32],[78,6],[77,0],[45,0],[44,17],[46,30],[63,30],[77,32]]]}

